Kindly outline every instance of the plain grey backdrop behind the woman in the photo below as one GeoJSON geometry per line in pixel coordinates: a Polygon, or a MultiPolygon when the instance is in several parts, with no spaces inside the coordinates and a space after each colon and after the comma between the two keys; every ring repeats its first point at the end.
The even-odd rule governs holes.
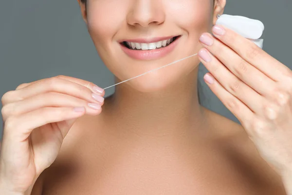
{"type": "MultiPolygon", "coordinates": [[[[291,10],[291,0],[227,0],[225,14],[261,20],[263,49],[292,68],[291,10]]],[[[206,72],[200,65],[201,104],[238,122],[202,81],[206,72]]],[[[0,97],[21,83],[57,75],[90,80],[100,87],[114,84],[91,42],[77,1],[2,0],[0,97]]],[[[107,90],[106,96],[113,90],[107,90]]]]}

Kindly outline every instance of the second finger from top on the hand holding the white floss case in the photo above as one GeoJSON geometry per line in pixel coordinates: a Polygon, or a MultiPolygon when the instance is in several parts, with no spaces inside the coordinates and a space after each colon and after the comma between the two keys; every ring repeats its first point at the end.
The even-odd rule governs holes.
{"type": "Polygon", "coordinates": [[[230,47],[227,47],[209,33],[204,33],[201,40],[209,40],[209,44],[206,45],[203,43],[203,46],[219,59],[219,61],[221,61],[234,75],[253,88],[257,93],[263,96],[268,96],[273,93],[276,84],[274,80],[242,59],[235,51],[230,49],[230,47]],[[265,85],[262,83],[265,83],[265,85]]]}

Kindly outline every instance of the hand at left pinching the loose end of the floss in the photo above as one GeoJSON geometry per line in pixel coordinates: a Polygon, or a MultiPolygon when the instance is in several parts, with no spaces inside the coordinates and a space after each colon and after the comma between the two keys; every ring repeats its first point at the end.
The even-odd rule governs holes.
{"type": "Polygon", "coordinates": [[[93,83],[67,76],[24,83],[4,94],[0,186],[15,193],[31,188],[55,161],[74,121],[101,113],[103,96],[93,83]]]}

